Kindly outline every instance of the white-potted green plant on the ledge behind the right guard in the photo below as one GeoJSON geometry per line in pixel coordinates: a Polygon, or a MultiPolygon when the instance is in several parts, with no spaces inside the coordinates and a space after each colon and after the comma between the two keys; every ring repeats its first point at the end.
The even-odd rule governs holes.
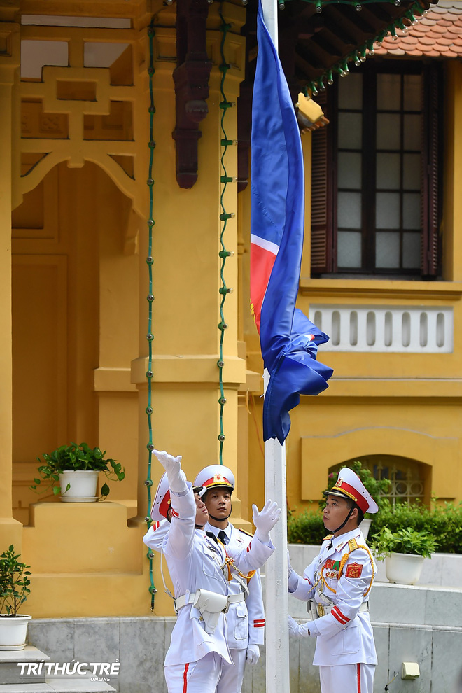
{"type": "Polygon", "coordinates": [[[419,582],[423,559],[431,558],[437,540],[426,531],[417,532],[412,527],[392,532],[381,529],[371,545],[372,553],[379,561],[385,561],[389,582],[415,584],[419,582]]]}

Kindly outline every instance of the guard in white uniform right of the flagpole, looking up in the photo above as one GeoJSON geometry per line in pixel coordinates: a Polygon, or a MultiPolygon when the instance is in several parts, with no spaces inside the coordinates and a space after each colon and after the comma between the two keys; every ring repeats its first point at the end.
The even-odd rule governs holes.
{"type": "Polygon", "coordinates": [[[368,601],[377,567],[358,524],[378,507],[349,468],[324,495],[324,526],[332,534],[303,577],[288,568],[288,591],[307,601],[312,620],[298,624],[289,616],[289,631],[316,638],[313,664],[323,693],[372,693],[377,654],[368,601]]]}

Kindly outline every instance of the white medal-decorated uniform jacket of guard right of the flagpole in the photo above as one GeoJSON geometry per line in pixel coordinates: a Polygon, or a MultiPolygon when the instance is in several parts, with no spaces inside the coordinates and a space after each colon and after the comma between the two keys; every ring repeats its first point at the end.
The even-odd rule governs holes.
{"type": "Polygon", "coordinates": [[[290,574],[288,591],[293,596],[314,599],[329,611],[307,623],[309,635],[317,638],[313,664],[377,664],[369,612],[362,606],[369,599],[376,572],[358,528],[326,538],[303,577],[295,570],[290,574]]]}

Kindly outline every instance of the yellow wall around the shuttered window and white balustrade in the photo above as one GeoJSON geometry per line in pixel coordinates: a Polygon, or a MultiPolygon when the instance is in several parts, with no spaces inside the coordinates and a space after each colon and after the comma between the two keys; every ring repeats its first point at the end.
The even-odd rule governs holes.
{"type": "MultiPolygon", "coordinates": [[[[311,304],[380,307],[430,306],[454,309],[452,353],[353,353],[323,351],[318,360],[334,369],[329,388],[316,398],[302,397],[291,413],[286,440],[288,507],[317,509],[334,465],[355,458],[393,456],[419,463],[424,500],[462,500],[461,372],[462,284],[461,195],[462,69],[448,62],[445,72],[443,277],[442,281],[377,279],[311,279],[309,218],[297,307],[309,314],[311,304]]],[[[309,144],[305,135],[307,159],[309,144]]],[[[309,191],[309,159],[307,200],[309,191]]],[[[258,339],[247,323],[248,364],[262,370],[258,339]]],[[[261,388],[260,388],[261,391],[261,388]]],[[[249,430],[249,475],[259,484],[264,470],[261,449],[262,402],[255,393],[249,430]]],[[[260,499],[262,493],[260,492],[260,499]]]]}

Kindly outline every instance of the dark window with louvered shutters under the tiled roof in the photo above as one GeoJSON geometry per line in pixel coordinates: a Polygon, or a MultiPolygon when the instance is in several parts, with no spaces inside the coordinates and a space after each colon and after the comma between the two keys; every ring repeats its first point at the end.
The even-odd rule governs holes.
{"type": "Polygon", "coordinates": [[[438,274],[438,64],[370,60],[326,90],[314,132],[311,274],[438,274]]]}

